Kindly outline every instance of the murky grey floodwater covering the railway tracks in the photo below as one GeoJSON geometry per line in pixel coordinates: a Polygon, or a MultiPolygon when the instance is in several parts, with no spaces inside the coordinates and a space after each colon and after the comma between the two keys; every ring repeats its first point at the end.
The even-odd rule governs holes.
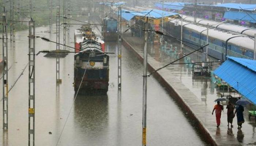
{"type": "MultiPolygon", "coordinates": [[[[74,46],[74,29],[75,27],[71,28],[70,41],[67,41],[71,46],[74,46]]],[[[36,35],[49,37],[50,40],[55,41],[56,35],[45,33],[45,30],[48,30],[48,27],[36,28],[36,35]]],[[[63,33],[60,34],[62,36],[63,33]]],[[[27,35],[28,31],[16,32],[16,49],[9,47],[9,66],[12,65],[9,71],[9,87],[28,62],[27,35]]],[[[35,47],[37,53],[45,49],[55,50],[56,45],[37,38],[35,47]]],[[[116,43],[106,42],[106,51],[116,52],[116,43]]],[[[117,54],[110,54],[108,94],[79,95],[75,101],[72,84],[74,54],[71,53],[60,59],[62,84],[59,87],[56,87],[56,59],[45,58],[44,54],[36,56],[35,145],[141,145],[142,64],[124,47],[122,53],[121,93],[118,95],[117,91],[117,54]]],[[[0,130],[0,145],[28,145],[28,76],[28,68],[26,68],[9,93],[8,132],[0,130]]],[[[2,84],[0,87],[2,88],[2,84]]],[[[2,112],[0,113],[2,119],[2,112]]],[[[0,120],[0,127],[2,124],[0,120]]],[[[153,77],[148,78],[147,144],[149,146],[206,145],[189,123],[182,109],[153,77]]]]}

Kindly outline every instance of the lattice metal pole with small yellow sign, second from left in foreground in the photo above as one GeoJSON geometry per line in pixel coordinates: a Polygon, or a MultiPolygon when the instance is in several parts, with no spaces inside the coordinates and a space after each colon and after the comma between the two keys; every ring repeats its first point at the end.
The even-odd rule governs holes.
{"type": "Polygon", "coordinates": [[[29,21],[29,146],[35,145],[35,22],[29,21]]]}

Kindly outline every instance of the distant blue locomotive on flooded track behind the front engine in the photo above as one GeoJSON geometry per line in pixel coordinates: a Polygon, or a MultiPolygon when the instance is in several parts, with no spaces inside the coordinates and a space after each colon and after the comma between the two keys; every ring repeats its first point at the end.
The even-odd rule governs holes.
{"type": "Polygon", "coordinates": [[[103,21],[104,41],[117,41],[117,20],[112,17],[106,17],[103,21]]]}

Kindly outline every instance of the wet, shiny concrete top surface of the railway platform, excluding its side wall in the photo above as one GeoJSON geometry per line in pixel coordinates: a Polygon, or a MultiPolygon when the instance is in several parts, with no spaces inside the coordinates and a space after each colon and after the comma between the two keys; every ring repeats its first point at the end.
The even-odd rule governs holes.
{"type": "MultiPolygon", "coordinates": [[[[138,54],[143,56],[143,40],[141,38],[131,37],[130,34],[124,35],[123,38],[138,54]]],[[[151,42],[148,43],[148,53],[150,54],[148,56],[148,63],[155,69],[175,60],[175,58],[162,53],[159,45],[152,44],[151,42]]],[[[173,42],[174,46],[180,48],[177,44],[177,42],[173,42]]],[[[192,50],[184,48],[183,51],[188,53],[192,50]]],[[[179,56],[180,54],[177,55],[179,56]]],[[[202,53],[197,52],[190,57],[193,62],[201,62],[202,53]]],[[[216,59],[210,58],[210,61],[214,60],[216,59]]],[[[183,60],[179,62],[183,63],[183,60]]],[[[170,65],[159,71],[159,73],[180,94],[182,99],[185,100],[193,111],[193,114],[203,123],[218,145],[255,145],[256,122],[254,118],[249,120],[247,109],[244,112],[245,123],[242,129],[237,129],[236,117],[233,120],[234,128],[231,129],[227,128],[226,103],[222,103],[224,105],[224,111],[222,112],[221,126],[219,128],[216,127],[215,115],[211,115],[211,111],[216,104],[214,100],[221,95],[217,92],[215,85],[209,78],[194,79],[192,78],[191,71],[192,69],[187,65],[170,65]]]]}

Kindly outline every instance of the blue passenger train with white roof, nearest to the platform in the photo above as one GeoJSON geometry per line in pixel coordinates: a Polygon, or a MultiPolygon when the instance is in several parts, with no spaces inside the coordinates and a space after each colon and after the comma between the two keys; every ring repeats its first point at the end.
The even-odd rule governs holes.
{"type": "MultiPolygon", "coordinates": [[[[169,22],[165,23],[164,27],[169,34],[180,38],[180,20],[169,19],[169,22]],[[174,25],[176,21],[178,21],[179,26],[174,25]]],[[[203,46],[206,45],[206,38],[206,26],[183,22],[183,39],[185,41],[203,46]]],[[[226,59],[226,55],[253,59],[254,41],[246,35],[219,30],[217,28],[210,28],[208,43],[208,55],[219,60],[224,61],[226,59]]]]}

